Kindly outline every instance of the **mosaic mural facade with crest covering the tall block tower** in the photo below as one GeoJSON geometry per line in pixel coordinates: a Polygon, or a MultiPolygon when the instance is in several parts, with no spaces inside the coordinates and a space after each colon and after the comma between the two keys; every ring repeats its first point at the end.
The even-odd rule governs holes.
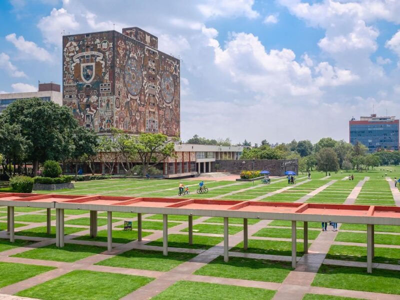
{"type": "Polygon", "coordinates": [[[179,135],[179,60],[132,27],[63,36],[63,105],[99,133],[179,135]]]}

